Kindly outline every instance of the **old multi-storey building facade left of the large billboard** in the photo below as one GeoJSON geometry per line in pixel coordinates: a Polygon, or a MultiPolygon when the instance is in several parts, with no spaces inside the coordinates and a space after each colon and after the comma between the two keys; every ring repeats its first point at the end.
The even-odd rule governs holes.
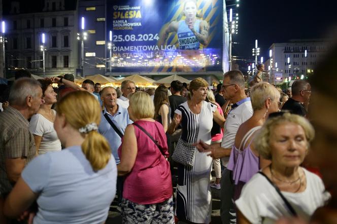
{"type": "Polygon", "coordinates": [[[9,71],[28,69],[43,75],[42,33],[45,33],[45,73],[56,76],[75,73],[78,64],[77,6],[64,0],[45,0],[35,11],[26,11],[22,2],[12,2],[7,24],[6,65],[9,71]]]}

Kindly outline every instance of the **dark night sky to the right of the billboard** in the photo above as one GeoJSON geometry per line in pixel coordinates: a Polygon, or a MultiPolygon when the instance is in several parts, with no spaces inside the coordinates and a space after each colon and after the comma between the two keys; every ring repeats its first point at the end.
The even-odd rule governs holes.
{"type": "Polygon", "coordinates": [[[240,0],[238,11],[239,32],[233,35],[233,42],[240,44],[233,45],[232,55],[244,59],[253,59],[255,39],[260,56],[267,59],[273,43],[324,38],[337,27],[335,0],[240,0]]]}

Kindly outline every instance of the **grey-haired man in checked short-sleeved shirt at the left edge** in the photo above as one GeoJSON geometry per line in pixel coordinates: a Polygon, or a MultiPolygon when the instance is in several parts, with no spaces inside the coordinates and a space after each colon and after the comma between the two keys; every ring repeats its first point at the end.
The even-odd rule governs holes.
{"type": "Polygon", "coordinates": [[[32,78],[14,82],[10,106],[0,113],[0,222],[4,222],[2,203],[19,179],[25,165],[36,155],[34,137],[28,119],[42,104],[40,83],[32,78]]]}

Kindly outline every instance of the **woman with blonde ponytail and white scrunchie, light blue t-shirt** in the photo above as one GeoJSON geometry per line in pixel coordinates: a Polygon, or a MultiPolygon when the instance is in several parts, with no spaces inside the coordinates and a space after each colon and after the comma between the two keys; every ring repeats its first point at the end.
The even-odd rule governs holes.
{"type": "Polygon", "coordinates": [[[33,223],[103,223],[115,197],[117,167],[107,140],[97,132],[98,101],[72,92],[57,104],[54,128],[64,150],[31,161],[5,202],[17,217],[37,200],[33,223]]]}

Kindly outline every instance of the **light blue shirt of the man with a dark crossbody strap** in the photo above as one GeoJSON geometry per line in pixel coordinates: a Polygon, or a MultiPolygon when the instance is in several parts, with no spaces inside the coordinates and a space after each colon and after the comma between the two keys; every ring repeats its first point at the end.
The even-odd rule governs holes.
{"type": "Polygon", "coordinates": [[[129,113],[127,108],[118,105],[116,113],[112,116],[107,113],[107,110],[104,108],[104,112],[100,118],[100,124],[98,126],[98,132],[102,134],[106,139],[108,139],[112,155],[114,155],[116,164],[120,163],[119,156],[117,153],[118,147],[122,143],[122,139],[116,133],[116,131],[111,127],[107,119],[104,117],[105,114],[111,119],[111,121],[116,125],[118,130],[124,135],[125,128],[127,125],[132,124],[133,122],[129,118],[129,113]]]}

